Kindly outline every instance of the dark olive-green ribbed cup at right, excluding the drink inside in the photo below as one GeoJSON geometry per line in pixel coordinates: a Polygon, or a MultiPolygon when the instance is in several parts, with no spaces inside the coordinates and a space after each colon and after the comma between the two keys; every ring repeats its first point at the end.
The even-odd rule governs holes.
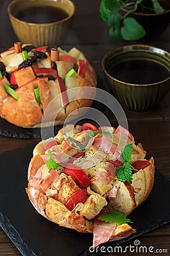
{"type": "MultiPolygon", "coordinates": [[[[102,61],[105,78],[114,97],[133,111],[145,111],[157,105],[170,89],[170,54],[163,49],[146,45],[131,45],[108,52],[102,61]],[[149,60],[163,65],[169,72],[164,80],[153,84],[130,84],[109,75],[109,70],[124,60],[149,60]]],[[[143,74],[145,76],[145,74],[143,74]]]]}

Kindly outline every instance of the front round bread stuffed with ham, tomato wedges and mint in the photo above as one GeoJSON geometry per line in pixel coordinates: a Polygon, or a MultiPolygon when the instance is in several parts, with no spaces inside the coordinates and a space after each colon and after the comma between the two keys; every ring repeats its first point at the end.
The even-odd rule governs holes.
{"type": "Polygon", "coordinates": [[[126,216],[154,184],[154,159],[145,156],[142,145],[122,126],[65,126],[33,150],[29,200],[48,220],[94,233],[94,247],[128,237],[135,230],[126,216]]]}

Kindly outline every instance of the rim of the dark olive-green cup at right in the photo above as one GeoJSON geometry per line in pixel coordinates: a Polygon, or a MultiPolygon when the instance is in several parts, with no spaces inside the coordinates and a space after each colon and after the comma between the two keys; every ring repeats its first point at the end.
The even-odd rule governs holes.
{"type": "Polygon", "coordinates": [[[170,79],[170,75],[169,77],[167,77],[167,79],[164,79],[164,80],[161,80],[159,82],[154,82],[152,84],[131,84],[131,83],[128,83],[128,82],[123,82],[123,81],[120,81],[120,80],[117,80],[116,78],[114,78],[113,76],[109,75],[109,73],[107,72],[106,68],[105,68],[105,63],[108,59],[108,56],[111,55],[113,56],[114,53],[116,53],[118,50],[121,50],[122,49],[122,54],[124,54],[124,52],[127,52],[127,51],[123,51],[124,49],[127,49],[129,48],[129,51],[131,51],[133,48],[135,49],[139,49],[139,50],[142,50],[142,49],[147,49],[148,52],[152,52],[154,53],[153,49],[156,49],[157,51],[159,51],[159,53],[157,52],[157,54],[161,54],[161,52],[164,52],[165,54],[161,54],[162,56],[165,56],[165,55],[168,55],[168,59],[170,60],[170,53],[167,52],[167,51],[164,51],[164,49],[161,49],[161,48],[158,48],[158,47],[154,47],[154,46],[147,46],[146,44],[131,44],[129,46],[121,46],[121,47],[118,47],[118,48],[115,48],[109,52],[107,52],[105,54],[105,56],[103,57],[103,60],[102,60],[102,68],[103,68],[103,71],[104,73],[110,77],[111,79],[113,79],[114,81],[117,81],[117,82],[120,82],[121,84],[124,84],[124,85],[130,85],[130,86],[153,86],[153,85],[159,85],[159,84],[162,84],[162,82],[165,82],[165,81],[168,81],[170,79]]]}

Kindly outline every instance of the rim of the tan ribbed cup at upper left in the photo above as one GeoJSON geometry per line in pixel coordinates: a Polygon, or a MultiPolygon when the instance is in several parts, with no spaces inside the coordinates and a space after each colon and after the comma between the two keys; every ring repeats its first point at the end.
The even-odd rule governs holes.
{"type": "MultiPolygon", "coordinates": [[[[27,0],[25,0],[25,1],[27,1],[27,0]]],[[[52,25],[52,24],[59,24],[59,23],[65,22],[66,20],[69,20],[70,18],[72,18],[72,17],[74,16],[74,14],[75,14],[75,5],[74,5],[74,3],[73,3],[72,1],[70,1],[70,0],[65,0],[65,1],[70,2],[70,3],[73,5],[73,13],[72,13],[71,15],[69,15],[67,18],[62,19],[62,20],[59,20],[58,22],[50,22],[50,23],[31,23],[31,22],[24,22],[23,20],[17,19],[14,15],[11,14],[10,8],[11,8],[11,5],[14,4],[14,3],[17,3],[18,0],[12,1],[12,2],[8,5],[8,7],[7,7],[7,11],[8,11],[8,15],[11,16],[12,19],[14,19],[14,20],[16,20],[16,21],[18,21],[18,22],[20,22],[20,23],[28,24],[28,25],[34,25],[34,26],[50,26],[50,25],[52,25]]],[[[35,0],[35,2],[36,2],[36,0],[35,0]]],[[[48,1],[48,2],[49,2],[49,1],[48,1]]],[[[56,1],[55,1],[55,0],[51,0],[50,2],[54,2],[54,3],[55,3],[56,1]]]]}

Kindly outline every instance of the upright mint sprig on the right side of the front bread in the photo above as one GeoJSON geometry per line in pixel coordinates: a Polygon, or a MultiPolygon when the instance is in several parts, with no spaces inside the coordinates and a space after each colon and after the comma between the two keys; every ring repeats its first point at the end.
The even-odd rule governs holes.
{"type": "Polygon", "coordinates": [[[131,170],[135,170],[130,164],[131,155],[133,151],[132,145],[133,145],[132,143],[128,144],[122,149],[120,159],[121,159],[121,162],[124,163],[124,165],[116,168],[117,179],[120,180],[121,182],[128,181],[130,184],[132,183],[131,170]]]}

